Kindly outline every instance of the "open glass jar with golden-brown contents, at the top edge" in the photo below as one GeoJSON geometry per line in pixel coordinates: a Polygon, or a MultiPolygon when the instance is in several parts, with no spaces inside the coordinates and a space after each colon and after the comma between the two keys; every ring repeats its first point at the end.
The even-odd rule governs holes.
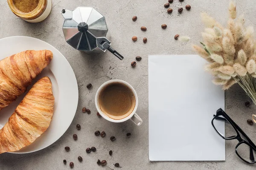
{"type": "Polygon", "coordinates": [[[43,21],[52,9],[51,0],[7,0],[7,2],[15,15],[29,23],[43,21]],[[36,6],[34,2],[38,2],[38,5],[36,6]]]}

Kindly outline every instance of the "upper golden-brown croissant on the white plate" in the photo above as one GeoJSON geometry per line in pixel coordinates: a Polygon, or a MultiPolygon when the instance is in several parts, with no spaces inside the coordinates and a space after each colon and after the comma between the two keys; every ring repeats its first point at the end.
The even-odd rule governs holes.
{"type": "Polygon", "coordinates": [[[41,71],[51,62],[52,51],[27,50],[0,61],[0,110],[26,91],[41,71]]]}

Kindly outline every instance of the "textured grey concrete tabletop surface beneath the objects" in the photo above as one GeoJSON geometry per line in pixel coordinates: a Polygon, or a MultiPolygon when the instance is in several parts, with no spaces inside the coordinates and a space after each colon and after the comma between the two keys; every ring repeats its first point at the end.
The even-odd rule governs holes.
{"type": "MultiPolygon", "coordinates": [[[[167,0],[53,0],[52,12],[41,23],[31,24],[19,19],[8,7],[6,0],[0,0],[0,38],[23,35],[35,37],[48,42],[57,48],[70,62],[74,69],[79,85],[79,104],[75,119],[67,132],[54,144],[44,150],[29,154],[4,153],[0,155],[0,170],[67,170],[73,161],[74,170],[111,170],[119,162],[124,170],[255,170],[256,165],[243,163],[234,151],[237,141],[226,142],[226,161],[176,161],[150,162],[148,160],[148,55],[149,54],[194,54],[191,43],[201,40],[203,26],[199,19],[200,11],[207,11],[222,24],[226,23],[228,0],[184,0],[180,3],[174,0],[171,4],[172,14],[167,14],[163,4],[167,0]],[[191,11],[184,10],[177,13],[177,8],[192,6],[191,11]],[[63,18],[61,9],[73,10],[77,6],[93,6],[105,15],[108,28],[111,31],[111,42],[125,59],[119,61],[109,52],[96,56],[87,56],[67,45],[62,33],[63,18]],[[131,18],[137,15],[138,20],[131,18]],[[166,30],[161,28],[167,24],[166,30]],[[141,26],[148,30],[143,32],[141,26]],[[188,35],[192,38],[189,43],[174,40],[174,35],[188,35]],[[131,37],[137,36],[138,41],[132,42],[131,37]],[[143,37],[148,43],[143,44],[143,37]],[[136,56],[143,57],[137,62],[136,68],[131,68],[131,61],[136,56]],[[143,125],[137,127],[131,121],[114,124],[96,116],[94,96],[99,86],[109,79],[122,79],[129,82],[139,96],[137,113],[144,120],[143,125]],[[87,83],[93,88],[88,90],[87,83]],[[83,107],[90,108],[92,113],[81,113],[83,107]],[[76,124],[81,130],[76,130],[76,124]],[[105,138],[94,136],[96,130],[105,130],[105,138]],[[131,138],[125,134],[131,132],[131,138]],[[73,140],[73,133],[77,133],[78,140],[73,140]],[[110,136],[116,136],[115,142],[110,142],[110,136]],[[64,150],[70,146],[70,152],[64,150]],[[96,153],[87,154],[87,147],[95,146],[96,153]],[[108,151],[113,150],[113,156],[108,151]],[[80,163],[78,156],[84,161],[80,163]],[[97,159],[107,160],[108,165],[101,167],[96,164],[97,159]]],[[[244,12],[247,24],[256,26],[255,0],[237,0],[237,9],[244,12]]],[[[193,75],[191,75],[193,76],[193,75]]],[[[168,77],[166,77],[168,78],[168,77]]],[[[176,81],[176,80],[174,80],[176,81]]],[[[231,118],[256,142],[256,126],[249,126],[247,119],[255,113],[255,106],[246,108],[244,102],[249,98],[235,85],[226,91],[226,111],[231,118]]],[[[182,102],[182,101],[180,101],[182,102]]],[[[186,104],[184,103],[184,106],[186,104]]],[[[170,129],[170,133],[172,129],[170,129]]],[[[185,134],[184,134],[185,135],[185,134]]]]}

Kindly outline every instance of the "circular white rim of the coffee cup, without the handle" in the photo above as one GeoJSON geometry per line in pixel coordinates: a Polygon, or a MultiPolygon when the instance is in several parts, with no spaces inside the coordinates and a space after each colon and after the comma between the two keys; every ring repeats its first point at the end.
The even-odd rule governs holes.
{"type": "Polygon", "coordinates": [[[109,80],[109,81],[103,83],[103,84],[99,87],[99,89],[97,90],[96,95],[95,95],[95,105],[96,105],[97,111],[99,112],[99,114],[100,114],[104,119],[106,119],[106,120],[108,120],[108,121],[110,121],[110,122],[115,122],[115,123],[125,122],[125,121],[127,121],[128,119],[131,119],[131,117],[134,116],[134,114],[136,113],[137,107],[138,107],[138,96],[137,96],[137,93],[136,93],[136,91],[134,90],[134,88],[133,88],[128,82],[125,82],[125,81],[120,80],[120,79],[113,79],[113,80],[109,80]],[[98,101],[98,96],[99,96],[99,94],[100,94],[102,88],[104,88],[106,85],[109,85],[109,84],[114,83],[114,82],[119,82],[119,83],[122,83],[122,84],[128,86],[128,88],[131,89],[131,91],[133,92],[133,94],[134,94],[134,96],[135,96],[135,106],[134,106],[134,110],[131,112],[131,114],[129,114],[129,115],[126,116],[125,118],[123,118],[123,119],[118,119],[118,120],[117,120],[117,119],[112,119],[111,117],[105,115],[105,113],[103,113],[103,112],[101,111],[101,109],[99,108],[99,101],[98,101]]]}

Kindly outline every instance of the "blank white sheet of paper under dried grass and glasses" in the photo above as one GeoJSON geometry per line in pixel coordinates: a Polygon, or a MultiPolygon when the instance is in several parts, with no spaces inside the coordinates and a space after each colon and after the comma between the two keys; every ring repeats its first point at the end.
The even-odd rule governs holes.
{"type": "MultiPolygon", "coordinates": [[[[225,141],[211,125],[224,91],[198,55],[148,57],[149,160],[224,161],[225,141]]],[[[218,122],[224,133],[224,122],[218,122]]]]}

